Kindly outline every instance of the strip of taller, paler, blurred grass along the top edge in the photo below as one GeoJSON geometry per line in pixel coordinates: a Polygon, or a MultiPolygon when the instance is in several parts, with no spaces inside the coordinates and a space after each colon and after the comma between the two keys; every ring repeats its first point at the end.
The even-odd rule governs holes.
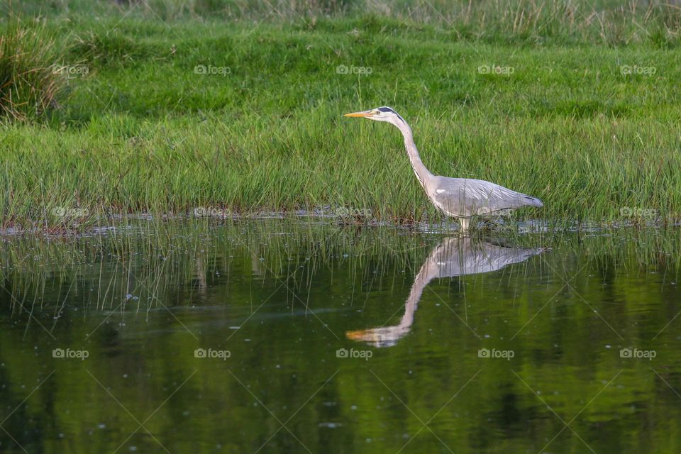
{"type": "MultiPolygon", "coordinates": [[[[304,21],[341,30],[336,18],[369,14],[370,27],[438,26],[455,40],[493,43],[679,43],[681,9],[663,0],[24,0],[9,8],[26,16],[132,16],[175,21],[304,21]],[[329,20],[331,19],[331,20],[329,20]]],[[[7,12],[3,5],[0,11],[7,12]]],[[[367,25],[362,23],[362,25],[367,25]]]]}

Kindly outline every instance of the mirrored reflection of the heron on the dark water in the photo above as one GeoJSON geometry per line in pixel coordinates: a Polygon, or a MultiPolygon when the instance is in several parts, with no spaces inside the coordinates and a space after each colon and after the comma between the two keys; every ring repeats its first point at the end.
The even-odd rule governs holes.
{"type": "Polygon", "coordinates": [[[433,249],[421,266],[411,292],[406,299],[404,316],[395,326],[348,331],[353,341],[369,343],[374,347],[389,347],[406,336],[414,323],[414,312],[419,304],[423,289],[431,280],[442,277],[475,275],[477,273],[501,270],[511,263],[519,263],[542,252],[541,248],[514,248],[488,242],[475,242],[470,237],[444,238],[433,249]]]}

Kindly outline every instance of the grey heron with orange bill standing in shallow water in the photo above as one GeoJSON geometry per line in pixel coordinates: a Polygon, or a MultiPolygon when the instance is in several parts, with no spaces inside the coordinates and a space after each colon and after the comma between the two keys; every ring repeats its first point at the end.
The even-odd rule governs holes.
{"type": "Polygon", "coordinates": [[[421,161],[419,150],[416,150],[411,127],[404,121],[404,118],[390,107],[382,106],[369,111],[345,114],[345,116],[386,121],[397,126],[397,129],[404,136],[404,146],[406,154],[409,155],[411,168],[414,169],[416,179],[419,180],[426,196],[444,214],[458,218],[461,231],[464,233],[469,230],[473,216],[502,214],[504,211],[509,212],[521,206],[544,206],[542,201],[536,197],[515,192],[482,179],[433,175],[421,161]]]}

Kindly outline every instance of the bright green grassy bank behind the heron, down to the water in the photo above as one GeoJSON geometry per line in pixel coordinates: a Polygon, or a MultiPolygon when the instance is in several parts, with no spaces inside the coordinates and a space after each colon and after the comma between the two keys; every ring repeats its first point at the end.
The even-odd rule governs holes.
{"type": "Polygon", "coordinates": [[[584,15],[582,28],[493,34],[407,10],[343,13],[350,4],[263,21],[56,5],[44,23],[70,78],[48,114],[1,126],[4,226],[319,206],[433,219],[399,132],[341,116],[382,105],[411,123],[433,172],[545,201],[516,217],[681,217],[674,9],[622,12],[642,25],[609,41],[584,15]]]}

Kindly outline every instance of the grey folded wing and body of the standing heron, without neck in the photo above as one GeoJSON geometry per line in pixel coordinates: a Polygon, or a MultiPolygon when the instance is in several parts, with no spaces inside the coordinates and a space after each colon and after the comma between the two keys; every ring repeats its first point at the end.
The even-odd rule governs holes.
{"type": "Polygon", "coordinates": [[[474,216],[494,211],[543,206],[541,200],[482,179],[436,177],[431,189],[435,204],[450,216],[474,216]]]}

